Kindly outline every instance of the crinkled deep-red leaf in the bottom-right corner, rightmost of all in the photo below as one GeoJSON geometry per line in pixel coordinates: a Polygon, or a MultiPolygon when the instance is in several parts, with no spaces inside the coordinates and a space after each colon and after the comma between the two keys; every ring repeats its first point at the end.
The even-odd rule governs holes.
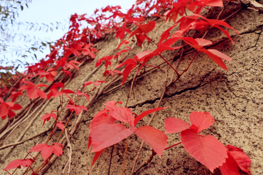
{"type": "Polygon", "coordinates": [[[250,164],[251,160],[250,158],[243,152],[242,149],[237,148],[232,145],[226,145],[227,150],[230,152],[230,154],[233,156],[233,158],[236,160],[239,168],[244,171],[247,174],[250,174],[250,164]]]}

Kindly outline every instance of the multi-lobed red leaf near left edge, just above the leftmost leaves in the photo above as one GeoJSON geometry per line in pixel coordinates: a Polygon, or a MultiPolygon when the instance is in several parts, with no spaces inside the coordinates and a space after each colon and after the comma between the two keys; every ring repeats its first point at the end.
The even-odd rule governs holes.
{"type": "Polygon", "coordinates": [[[38,84],[37,86],[30,82],[30,81],[24,81],[25,84],[28,85],[23,85],[19,88],[19,90],[24,90],[26,89],[27,95],[29,99],[35,99],[38,97],[41,97],[42,99],[46,98],[46,94],[43,90],[38,89],[39,87],[48,87],[47,85],[44,84],[38,84]]]}

